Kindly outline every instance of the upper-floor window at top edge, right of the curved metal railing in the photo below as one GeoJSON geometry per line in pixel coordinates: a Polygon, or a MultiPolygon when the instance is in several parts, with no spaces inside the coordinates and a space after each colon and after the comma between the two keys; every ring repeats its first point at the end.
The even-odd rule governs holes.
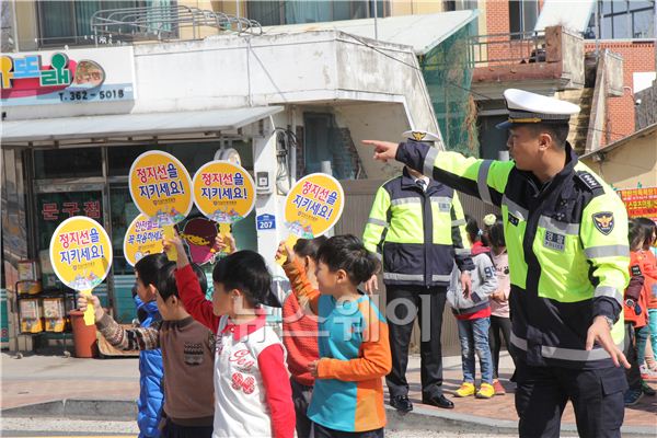
{"type": "MultiPolygon", "coordinates": [[[[320,23],[338,20],[357,20],[374,16],[374,3],[351,1],[279,1],[249,0],[247,16],[263,26],[281,24],[320,23]]],[[[377,0],[377,15],[390,15],[390,1],[377,0]]]]}

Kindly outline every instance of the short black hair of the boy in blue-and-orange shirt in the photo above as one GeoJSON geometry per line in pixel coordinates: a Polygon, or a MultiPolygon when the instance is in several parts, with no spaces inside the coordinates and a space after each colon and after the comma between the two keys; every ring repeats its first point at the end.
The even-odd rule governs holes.
{"type": "Polygon", "coordinates": [[[334,235],[320,246],[318,261],[325,263],[331,272],[343,269],[354,286],[370,279],[381,264],[355,235],[334,235]]]}

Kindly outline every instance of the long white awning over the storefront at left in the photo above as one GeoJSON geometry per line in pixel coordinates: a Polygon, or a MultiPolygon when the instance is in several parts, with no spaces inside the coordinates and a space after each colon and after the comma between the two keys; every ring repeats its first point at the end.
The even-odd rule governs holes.
{"type": "Polygon", "coordinates": [[[283,111],[283,106],[116,114],[3,122],[2,145],[234,130],[283,111]]]}

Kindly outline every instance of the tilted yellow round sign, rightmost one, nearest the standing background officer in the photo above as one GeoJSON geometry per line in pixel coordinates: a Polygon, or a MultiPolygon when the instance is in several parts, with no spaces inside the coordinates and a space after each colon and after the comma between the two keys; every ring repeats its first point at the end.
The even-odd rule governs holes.
{"type": "Polygon", "coordinates": [[[285,224],[290,233],[303,239],[324,234],[339,219],[345,204],[342,185],[331,175],[304,176],[285,200],[285,224]]]}

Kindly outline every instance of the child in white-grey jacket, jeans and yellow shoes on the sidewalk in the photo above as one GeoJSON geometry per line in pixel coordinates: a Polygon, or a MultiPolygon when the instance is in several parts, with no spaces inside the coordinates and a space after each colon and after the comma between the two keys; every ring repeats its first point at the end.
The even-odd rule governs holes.
{"type": "Polygon", "coordinates": [[[447,291],[447,300],[459,324],[459,341],[461,342],[461,361],[463,383],[456,396],[476,395],[477,399],[491,399],[495,395],[493,389],[493,359],[488,346],[488,330],[491,327],[491,303],[488,297],[497,289],[495,266],[491,258],[489,249],[481,242],[482,232],[476,221],[465,217],[469,239],[472,243],[471,272],[472,289],[463,291],[459,281],[461,273],[454,265],[452,279],[447,291]],[[474,351],[480,358],[482,383],[479,391],[474,385],[475,362],[474,351]]]}

